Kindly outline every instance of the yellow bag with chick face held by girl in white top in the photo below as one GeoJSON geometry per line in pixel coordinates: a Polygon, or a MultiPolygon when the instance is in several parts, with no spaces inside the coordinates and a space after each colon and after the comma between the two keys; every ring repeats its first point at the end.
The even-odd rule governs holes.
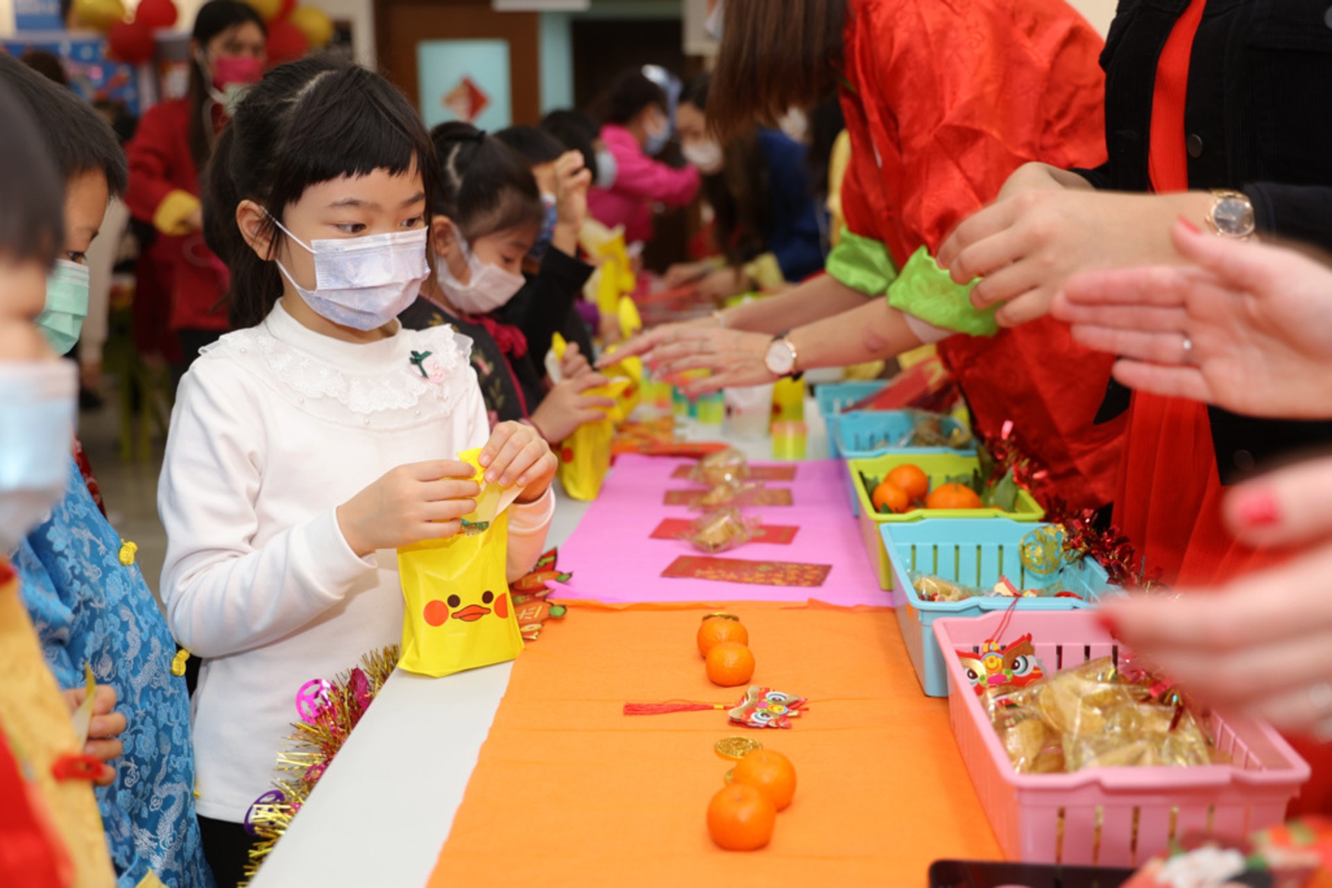
{"type": "Polygon", "coordinates": [[[477,510],[462,533],[398,550],[402,575],[404,670],[452,675],[518,656],[522,634],[509,600],[509,503],[521,493],[481,478],[481,450],[458,454],[477,466],[477,510]]]}

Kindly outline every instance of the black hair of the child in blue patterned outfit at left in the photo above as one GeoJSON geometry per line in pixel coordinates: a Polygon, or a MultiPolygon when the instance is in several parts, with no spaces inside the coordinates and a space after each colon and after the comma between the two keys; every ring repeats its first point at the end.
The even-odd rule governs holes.
{"type": "Polygon", "coordinates": [[[37,121],[37,132],[45,140],[47,153],[63,181],[96,170],[107,177],[112,196],[125,193],[129,180],[125,152],[101,114],[64,87],[3,52],[0,81],[9,85],[13,96],[37,121]]]}

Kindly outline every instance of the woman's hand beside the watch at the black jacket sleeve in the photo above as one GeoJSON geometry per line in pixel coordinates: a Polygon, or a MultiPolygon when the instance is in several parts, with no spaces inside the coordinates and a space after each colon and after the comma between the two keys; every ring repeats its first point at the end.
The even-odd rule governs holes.
{"type": "Polygon", "coordinates": [[[995,316],[1003,326],[1048,313],[1075,273],[1179,261],[1171,224],[1181,214],[1203,220],[1212,204],[1207,193],[1120,194],[1051,181],[1028,172],[1011,189],[1006,184],[1004,196],[939,248],[939,265],[955,282],[982,278],[971,292],[978,309],[1004,304],[995,316]]]}

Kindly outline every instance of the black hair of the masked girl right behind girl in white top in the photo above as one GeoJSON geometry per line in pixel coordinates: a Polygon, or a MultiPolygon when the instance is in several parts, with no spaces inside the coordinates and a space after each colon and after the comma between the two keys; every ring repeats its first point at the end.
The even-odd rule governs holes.
{"type": "Polygon", "coordinates": [[[468,242],[546,218],[531,170],[498,138],[452,121],[432,129],[430,140],[440,162],[430,209],[453,220],[468,242]]]}

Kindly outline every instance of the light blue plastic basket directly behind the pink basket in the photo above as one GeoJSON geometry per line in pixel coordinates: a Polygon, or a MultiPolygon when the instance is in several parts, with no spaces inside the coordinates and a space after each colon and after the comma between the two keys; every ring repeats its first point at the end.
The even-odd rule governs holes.
{"type": "Polygon", "coordinates": [[[1107,595],[1124,594],[1106,578],[1106,570],[1091,558],[1067,564],[1059,572],[1047,576],[1028,575],[1022,564],[1022,541],[1038,527],[1048,525],[1007,518],[990,521],[936,518],[914,525],[880,527],[896,580],[894,596],[898,600],[906,599],[906,603],[896,608],[902,640],[907,646],[911,666],[915,667],[916,678],[920,679],[920,687],[927,696],[948,696],[948,672],[934,635],[934,620],[940,616],[980,616],[990,611],[1007,610],[1012,599],[994,596],[960,602],[926,602],[911,584],[912,570],[980,588],[994,586],[1000,576],[1007,576],[1019,588],[1060,583],[1070,592],[1078,592],[1086,599],[1023,598],[1018,600],[1018,610],[1022,611],[1082,610],[1107,595]]]}

